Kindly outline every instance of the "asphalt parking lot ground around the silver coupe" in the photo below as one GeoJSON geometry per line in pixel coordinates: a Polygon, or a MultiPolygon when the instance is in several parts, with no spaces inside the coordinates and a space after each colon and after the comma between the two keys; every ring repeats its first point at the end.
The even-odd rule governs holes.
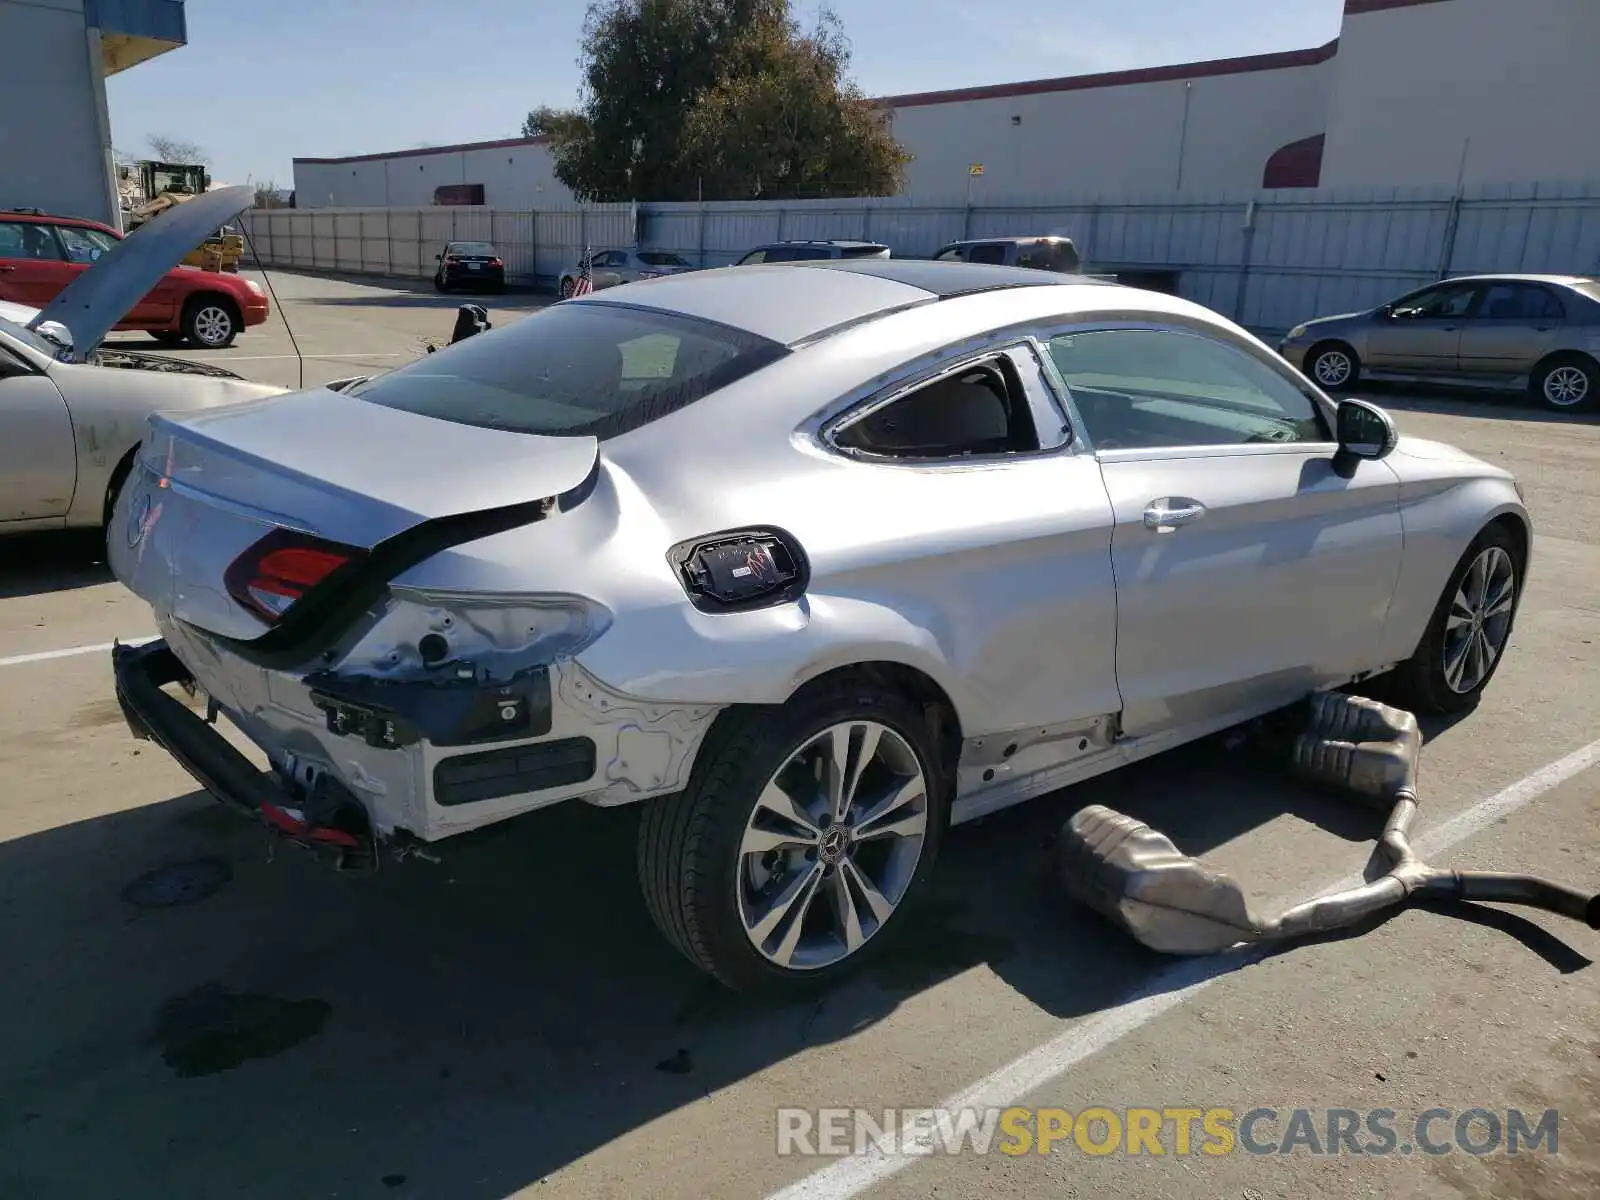
{"type": "MultiPolygon", "coordinates": [[[[307,382],[443,342],[467,299],[274,285],[307,382]]],[[[498,323],[542,302],[485,301],[498,323]]],[[[294,382],[280,323],[205,358],[294,382]]],[[[1424,850],[1600,890],[1600,422],[1373,398],[1405,432],[1518,472],[1538,522],[1488,698],[1427,728],[1424,850]]],[[[658,938],[629,811],[557,808],[366,880],[269,862],[256,830],[128,736],[104,646],[150,632],[93,538],[0,544],[0,1197],[1600,1195],[1600,933],[1410,910],[1262,960],[1184,962],[1058,896],[1054,832],[1096,802],[1237,872],[1262,907],[1357,875],[1379,819],[1227,739],[955,830],[893,957],[774,1006],[658,938]],[[181,862],[214,891],[130,891],[181,862]],[[1434,1107],[1558,1109],[1558,1150],[776,1154],[781,1106],[952,1098],[1392,1107],[1402,1126],[1434,1107]]]]}

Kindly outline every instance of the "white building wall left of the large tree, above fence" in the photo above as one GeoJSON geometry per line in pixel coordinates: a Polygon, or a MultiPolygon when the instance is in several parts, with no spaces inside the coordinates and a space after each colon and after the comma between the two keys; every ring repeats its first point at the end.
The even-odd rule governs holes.
{"type": "Polygon", "coordinates": [[[298,208],[427,208],[442,184],[483,184],[490,208],[566,208],[573,194],[538,142],[426,149],[381,158],[294,160],[298,208]]]}

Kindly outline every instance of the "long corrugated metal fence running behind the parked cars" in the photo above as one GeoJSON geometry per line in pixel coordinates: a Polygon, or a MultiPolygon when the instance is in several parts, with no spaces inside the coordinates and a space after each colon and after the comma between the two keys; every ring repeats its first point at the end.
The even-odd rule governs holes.
{"type": "Polygon", "coordinates": [[[696,266],[762,242],[850,237],[926,258],[963,237],[1067,234],[1090,270],[1165,270],[1181,294],[1258,330],[1371,307],[1480,270],[1600,272],[1600,182],[1346,189],[990,206],[901,198],[486,208],[272,210],[246,218],[269,266],[421,278],[451,238],[485,238],[515,282],[549,283],[582,246],[635,242],[696,266]]]}

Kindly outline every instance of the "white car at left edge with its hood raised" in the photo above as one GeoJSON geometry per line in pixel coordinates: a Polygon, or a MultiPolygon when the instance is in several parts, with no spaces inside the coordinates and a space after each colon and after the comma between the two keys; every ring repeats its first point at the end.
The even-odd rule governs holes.
{"type": "Polygon", "coordinates": [[[0,302],[0,536],[102,525],[155,411],[200,411],[285,390],[219,366],[101,341],[248,187],[206,192],[123,238],[45,309],[0,302]]]}

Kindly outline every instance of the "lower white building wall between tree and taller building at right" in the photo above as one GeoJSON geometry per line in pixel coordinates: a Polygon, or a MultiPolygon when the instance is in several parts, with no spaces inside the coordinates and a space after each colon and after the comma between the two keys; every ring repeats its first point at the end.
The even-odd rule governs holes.
{"type": "Polygon", "coordinates": [[[981,200],[1261,187],[1274,150],[1323,131],[1333,61],[894,110],[906,192],[981,200]],[[1187,106],[1187,117],[1186,117],[1187,106]],[[1013,123],[1021,117],[1021,123],[1013,123]]]}

